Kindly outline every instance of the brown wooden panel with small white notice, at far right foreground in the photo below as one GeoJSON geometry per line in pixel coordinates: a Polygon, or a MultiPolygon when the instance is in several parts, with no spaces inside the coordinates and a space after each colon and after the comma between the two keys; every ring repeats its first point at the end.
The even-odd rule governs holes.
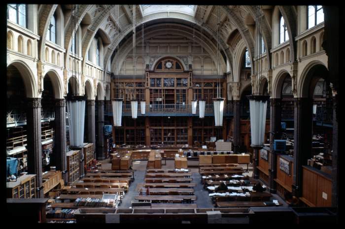
{"type": "Polygon", "coordinates": [[[303,198],[316,207],[332,205],[332,181],[321,172],[303,167],[303,198]]]}

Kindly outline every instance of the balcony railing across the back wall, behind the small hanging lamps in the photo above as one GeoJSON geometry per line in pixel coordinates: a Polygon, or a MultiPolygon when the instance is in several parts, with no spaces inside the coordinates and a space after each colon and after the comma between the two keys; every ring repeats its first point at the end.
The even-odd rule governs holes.
{"type": "MultiPolygon", "coordinates": [[[[105,105],[105,114],[112,116],[111,104],[105,105]]],[[[122,115],[131,116],[131,104],[122,105],[122,115]]],[[[197,113],[192,114],[192,106],[186,104],[146,104],[145,106],[146,116],[199,116],[199,104],[197,105],[197,113]]],[[[138,103],[138,116],[141,115],[140,103],[138,103]]],[[[206,104],[205,116],[213,116],[213,104],[206,104]]],[[[232,104],[226,104],[224,106],[224,116],[233,115],[232,104]]]]}

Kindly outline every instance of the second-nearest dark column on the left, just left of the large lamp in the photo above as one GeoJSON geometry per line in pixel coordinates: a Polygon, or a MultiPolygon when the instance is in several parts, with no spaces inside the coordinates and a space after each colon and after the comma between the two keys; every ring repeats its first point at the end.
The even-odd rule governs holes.
{"type": "Polygon", "coordinates": [[[65,184],[68,182],[66,145],[66,100],[55,100],[55,154],[56,170],[62,171],[65,184]]]}

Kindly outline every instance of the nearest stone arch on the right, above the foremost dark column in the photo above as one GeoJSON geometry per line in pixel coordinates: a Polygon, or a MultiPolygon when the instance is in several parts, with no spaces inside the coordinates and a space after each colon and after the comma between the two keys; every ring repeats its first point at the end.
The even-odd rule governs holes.
{"type": "Polygon", "coordinates": [[[301,77],[299,78],[297,84],[297,96],[301,98],[309,97],[310,86],[311,86],[311,78],[314,73],[327,74],[328,76],[328,68],[326,64],[319,60],[311,61],[307,64],[307,66],[303,69],[301,77]]]}

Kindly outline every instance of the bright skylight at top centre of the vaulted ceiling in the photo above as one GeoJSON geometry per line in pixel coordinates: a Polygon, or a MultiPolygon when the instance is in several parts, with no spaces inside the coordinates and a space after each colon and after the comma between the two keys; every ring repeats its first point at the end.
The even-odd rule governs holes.
{"type": "Polygon", "coordinates": [[[140,5],[140,10],[142,11],[143,16],[168,11],[194,16],[195,9],[196,5],[140,5]]]}

